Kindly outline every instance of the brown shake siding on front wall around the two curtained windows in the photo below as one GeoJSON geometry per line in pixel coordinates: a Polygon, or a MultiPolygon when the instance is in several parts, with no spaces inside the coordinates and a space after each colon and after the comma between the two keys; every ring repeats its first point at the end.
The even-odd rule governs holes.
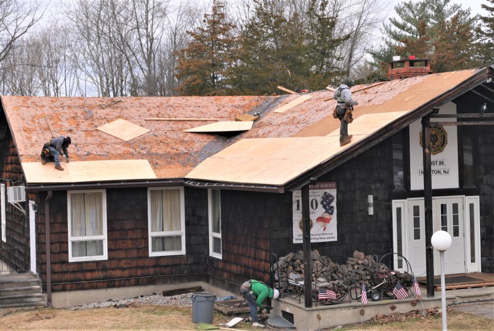
{"type": "MultiPolygon", "coordinates": [[[[43,193],[43,201],[46,193],[43,193]]],[[[46,289],[44,204],[39,211],[41,279],[46,289]],[[42,226],[41,226],[42,225],[42,226]]],[[[204,280],[207,192],[185,188],[186,255],[149,257],[146,188],[107,189],[108,260],[68,262],[67,194],[50,202],[53,291],[182,283],[204,280]],[[89,281],[89,282],[88,282],[89,281]]]]}

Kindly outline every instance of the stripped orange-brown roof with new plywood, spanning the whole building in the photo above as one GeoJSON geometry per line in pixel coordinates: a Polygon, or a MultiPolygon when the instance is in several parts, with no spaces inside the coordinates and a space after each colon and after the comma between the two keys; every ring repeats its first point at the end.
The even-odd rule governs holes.
{"type": "MultiPolygon", "coordinates": [[[[71,167],[74,161],[147,160],[155,175],[153,177],[146,164],[141,162],[135,165],[143,166],[146,176],[129,176],[128,173],[119,176],[114,173],[119,171],[118,168],[114,168],[113,176],[107,181],[185,178],[187,181],[288,188],[296,185],[298,178],[314,175],[322,166],[327,170],[329,164],[337,164],[347,155],[364,150],[364,145],[372,146],[377,138],[389,136],[390,128],[398,130],[409,125],[430,112],[432,107],[485,81],[487,75],[486,68],[431,74],[387,81],[355,92],[352,97],[359,105],[354,112],[354,123],[349,127],[354,138],[351,144],[343,147],[339,146],[337,131],[340,123],[332,117],[336,101],[332,99],[333,93],[327,90],[281,97],[129,97],[115,100],[2,96],[2,106],[21,163],[26,164],[23,166],[25,172],[33,168],[27,163],[39,162],[41,147],[51,136],[45,119],[48,116],[55,135],[72,137],[71,167]],[[299,99],[302,96],[304,100],[299,99]],[[280,109],[282,112],[274,112],[280,109]],[[243,133],[183,132],[214,123],[211,120],[146,120],[206,118],[233,121],[240,114],[253,115],[255,112],[260,112],[260,119],[254,122],[251,130],[243,133]],[[98,130],[117,119],[135,125],[132,128],[136,133],[118,138],[112,135],[118,133],[98,130]]],[[[352,90],[362,87],[355,86],[352,90]]],[[[110,127],[115,129],[116,124],[110,127]]],[[[118,127],[116,129],[118,132],[118,127]]],[[[133,169],[138,173],[139,170],[132,168],[135,165],[122,169],[133,169]]],[[[100,164],[94,166],[97,168],[100,164]]],[[[58,180],[50,181],[49,176],[40,176],[43,167],[34,168],[38,177],[47,180],[31,180],[30,176],[28,184],[105,181],[101,176],[95,180],[75,175],[60,175],[58,180]]]]}

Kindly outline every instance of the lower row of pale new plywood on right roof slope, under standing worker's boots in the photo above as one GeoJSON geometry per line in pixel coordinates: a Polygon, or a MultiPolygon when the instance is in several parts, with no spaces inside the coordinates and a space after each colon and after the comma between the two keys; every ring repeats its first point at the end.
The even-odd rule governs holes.
{"type": "Polygon", "coordinates": [[[364,137],[343,147],[334,136],[244,139],[204,160],[186,178],[283,185],[364,137]]]}

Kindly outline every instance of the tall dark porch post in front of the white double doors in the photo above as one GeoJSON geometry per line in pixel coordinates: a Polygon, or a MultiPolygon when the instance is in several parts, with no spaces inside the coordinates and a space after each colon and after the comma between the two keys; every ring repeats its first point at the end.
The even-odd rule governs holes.
{"type": "Polygon", "coordinates": [[[424,216],[426,227],[426,277],[427,297],[434,297],[434,255],[431,245],[432,220],[432,173],[431,173],[431,127],[430,115],[422,117],[422,150],[424,151],[424,216]]]}

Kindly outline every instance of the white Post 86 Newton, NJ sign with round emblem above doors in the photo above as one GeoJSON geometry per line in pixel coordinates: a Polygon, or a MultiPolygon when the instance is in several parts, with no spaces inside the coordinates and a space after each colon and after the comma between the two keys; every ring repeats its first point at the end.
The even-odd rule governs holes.
{"type": "MultiPolygon", "coordinates": [[[[455,114],[456,106],[448,102],[439,114],[455,114]]],[[[434,118],[434,121],[438,119],[434,118]]],[[[433,122],[431,119],[431,122],[433,122]]],[[[455,121],[455,118],[441,118],[455,121]]],[[[410,188],[424,189],[423,137],[420,119],[410,125],[410,188]]],[[[456,126],[434,125],[431,127],[432,188],[457,188],[458,183],[458,136],[456,126]]]]}

